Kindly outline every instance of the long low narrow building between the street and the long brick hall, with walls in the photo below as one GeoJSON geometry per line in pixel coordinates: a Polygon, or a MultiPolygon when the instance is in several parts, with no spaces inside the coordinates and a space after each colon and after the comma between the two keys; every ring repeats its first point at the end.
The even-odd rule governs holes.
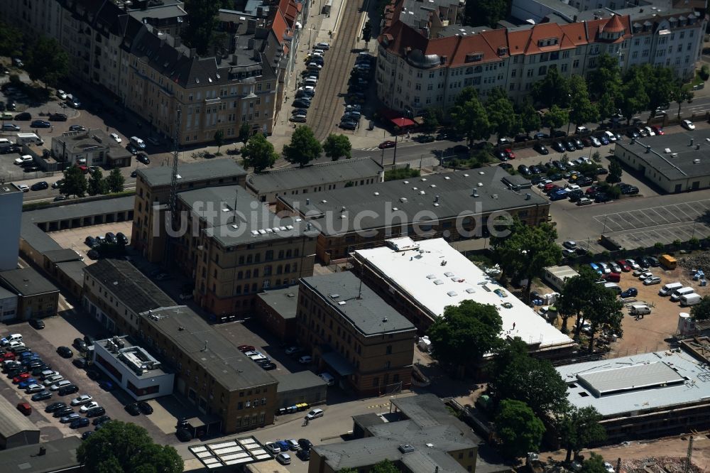
{"type": "Polygon", "coordinates": [[[251,174],[246,188],[261,202],[273,204],[279,195],[299,195],[381,183],[384,170],[371,158],[345,159],[251,174]]]}

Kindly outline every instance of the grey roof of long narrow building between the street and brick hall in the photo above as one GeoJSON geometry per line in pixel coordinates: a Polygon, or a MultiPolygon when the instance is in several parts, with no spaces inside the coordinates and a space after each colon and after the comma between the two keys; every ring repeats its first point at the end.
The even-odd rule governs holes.
{"type": "Polygon", "coordinates": [[[264,193],[370,178],[376,176],[381,170],[382,166],[371,158],[346,159],[305,168],[285,168],[251,174],[246,178],[246,183],[256,192],[264,193]]]}

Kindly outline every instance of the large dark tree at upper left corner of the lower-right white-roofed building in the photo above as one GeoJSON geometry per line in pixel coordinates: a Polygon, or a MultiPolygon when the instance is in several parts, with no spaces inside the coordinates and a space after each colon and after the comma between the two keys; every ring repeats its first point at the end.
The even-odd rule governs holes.
{"type": "Polygon", "coordinates": [[[528,344],[520,338],[508,340],[496,352],[489,373],[496,398],[522,401],[538,417],[567,406],[567,384],[562,376],[550,361],[530,357],[528,344]]]}

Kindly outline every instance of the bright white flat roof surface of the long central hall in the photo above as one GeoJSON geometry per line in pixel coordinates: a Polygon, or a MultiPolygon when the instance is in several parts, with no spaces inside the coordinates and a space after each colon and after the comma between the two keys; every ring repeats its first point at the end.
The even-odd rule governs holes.
{"type": "Polygon", "coordinates": [[[405,251],[380,246],[355,253],[361,261],[376,268],[400,291],[416,300],[432,318],[441,316],[447,305],[475,300],[498,308],[503,319],[503,338],[520,337],[528,344],[540,344],[540,347],[572,343],[572,339],[548,324],[444,239],[411,243],[406,240],[391,242],[393,246],[408,248],[405,251]],[[444,261],[446,263],[442,265],[444,261]]]}

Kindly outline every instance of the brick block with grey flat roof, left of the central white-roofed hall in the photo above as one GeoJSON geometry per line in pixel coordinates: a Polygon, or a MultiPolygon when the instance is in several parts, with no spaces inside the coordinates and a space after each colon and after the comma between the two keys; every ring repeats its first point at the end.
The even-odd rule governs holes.
{"type": "Polygon", "coordinates": [[[365,396],[408,388],[416,327],[344,271],[302,278],[298,340],[314,364],[365,396]]]}

